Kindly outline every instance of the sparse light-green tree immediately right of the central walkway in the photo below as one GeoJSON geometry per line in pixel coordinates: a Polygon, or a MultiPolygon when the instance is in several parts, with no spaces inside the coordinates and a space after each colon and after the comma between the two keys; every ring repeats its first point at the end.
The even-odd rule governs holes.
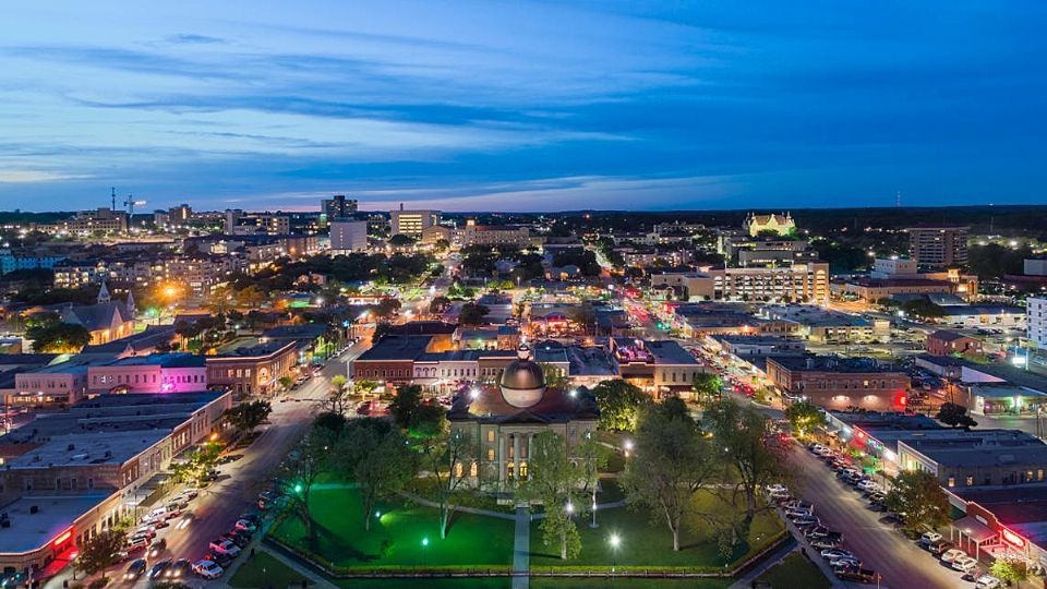
{"type": "Polygon", "coordinates": [[[571,496],[586,484],[586,472],[570,460],[567,441],[555,432],[534,436],[527,457],[528,479],[517,490],[524,501],[539,501],[545,506],[542,519],[542,543],[559,544],[559,557],[574,558],[581,552],[581,538],[571,518],[571,496]]]}

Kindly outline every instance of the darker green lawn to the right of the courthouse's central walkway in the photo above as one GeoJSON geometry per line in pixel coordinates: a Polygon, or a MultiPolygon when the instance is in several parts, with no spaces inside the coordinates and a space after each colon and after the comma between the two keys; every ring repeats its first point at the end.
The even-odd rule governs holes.
{"type": "MultiPolygon", "coordinates": [[[[696,509],[700,513],[714,513],[730,509],[715,495],[701,491],[695,495],[696,509]]],[[[710,524],[693,516],[681,532],[681,550],[673,551],[673,538],[669,528],[658,521],[651,524],[646,512],[633,512],[617,507],[597,512],[599,528],[590,528],[589,519],[578,522],[581,534],[581,554],[578,557],[561,561],[558,546],[546,549],[542,545],[540,521],[531,525],[531,566],[710,566],[721,567],[734,562],[749,552],[751,546],[762,546],[781,529],[782,524],[773,514],[760,514],[753,522],[749,542],[739,544],[734,554],[724,557],[720,554],[710,524]],[[612,533],[621,538],[616,553],[612,551],[609,539],[612,533]]]]}

